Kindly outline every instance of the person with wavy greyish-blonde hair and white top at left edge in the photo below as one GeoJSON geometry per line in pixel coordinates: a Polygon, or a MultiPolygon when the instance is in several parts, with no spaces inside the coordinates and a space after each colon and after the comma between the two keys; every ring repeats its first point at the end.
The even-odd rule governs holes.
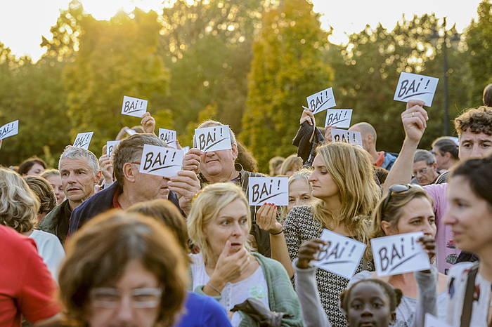
{"type": "Polygon", "coordinates": [[[0,224],[34,239],[39,255],[56,280],[58,266],[65,257],[65,251],[58,237],[34,229],[39,206],[36,194],[20,175],[0,167],[0,224]]]}

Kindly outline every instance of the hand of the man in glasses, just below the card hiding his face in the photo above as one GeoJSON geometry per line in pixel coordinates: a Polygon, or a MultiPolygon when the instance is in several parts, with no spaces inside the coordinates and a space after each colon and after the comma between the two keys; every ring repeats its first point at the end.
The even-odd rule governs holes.
{"type": "Polygon", "coordinates": [[[200,181],[193,171],[179,171],[167,183],[169,191],[178,194],[179,207],[188,215],[191,210],[191,200],[200,191],[200,181]]]}

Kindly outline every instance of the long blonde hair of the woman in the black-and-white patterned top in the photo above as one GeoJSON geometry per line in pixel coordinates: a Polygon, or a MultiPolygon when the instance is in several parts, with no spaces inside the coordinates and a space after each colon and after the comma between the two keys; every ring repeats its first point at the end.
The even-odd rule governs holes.
{"type": "Polygon", "coordinates": [[[316,153],[339,189],[342,208],[335,217],[325,208],[324,201],[318,200],[313,205],[314,219],[324,227],[342,224],[358,241],[368,243],[368,217],[381,196],[370,154],[345,142],[322,145],[316,153]]]}

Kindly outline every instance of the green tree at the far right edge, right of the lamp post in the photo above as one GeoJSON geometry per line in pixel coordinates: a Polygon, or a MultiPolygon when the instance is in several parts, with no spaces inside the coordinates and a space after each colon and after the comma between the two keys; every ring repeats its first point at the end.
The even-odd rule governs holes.
{"type": "Polygon", "coordinates": [[[477,13],[478,19],[472,21],[465,33],[469,49],[467,62],[472,75],[470,100],[474,107],[482,104],[484,87],[492,83],[492,1],[481,1],[477,13]]]}

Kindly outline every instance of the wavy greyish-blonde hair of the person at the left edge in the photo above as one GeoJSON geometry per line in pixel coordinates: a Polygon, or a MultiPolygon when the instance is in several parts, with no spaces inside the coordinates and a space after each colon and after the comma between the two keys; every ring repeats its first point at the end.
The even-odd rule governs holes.
{"type": "Polygon", "coordinates": [[[0,224],[19,233],[29,232],[37,222],[39,200],[15,171],[0,167],[0,224]]]}

